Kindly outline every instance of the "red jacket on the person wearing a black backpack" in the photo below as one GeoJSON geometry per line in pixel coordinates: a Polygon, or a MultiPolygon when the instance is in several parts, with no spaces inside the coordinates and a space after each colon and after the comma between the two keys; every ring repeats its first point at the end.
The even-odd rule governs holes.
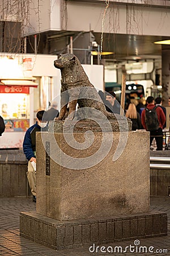
{"type": "MultiPolygon", "coordinates": [[[[147,109],[153,109],[154,107],[155,107],[154,104],[147,104],[147,109]]],[[[159,127],[161,127],[163,129],[163,125],[164,125],[164,123],[166,121],[165,114],[164,114],[162,108],[160,108],[159,106],[157,106],[157,108],[156,108],[156,113],[158,115],[159,127]]],[[[142,111],[141,122],[142,122],[143,127],[146,130],[146,125],[145,125],[145,109],[142,111]]]]}

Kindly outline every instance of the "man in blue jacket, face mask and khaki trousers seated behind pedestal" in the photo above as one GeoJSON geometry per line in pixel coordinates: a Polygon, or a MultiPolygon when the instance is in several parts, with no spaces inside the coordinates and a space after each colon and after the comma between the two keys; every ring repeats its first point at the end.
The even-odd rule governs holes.
{"type": "Polygon", "coordinates": [[[28,160],[27,179],[33,202],[36,202],[36,132],[47,130],[47,121],[44,121],[45,113],[45,110],[37,112],[36,123],[28,128],[23,141],[23,151],[28,160]]]}

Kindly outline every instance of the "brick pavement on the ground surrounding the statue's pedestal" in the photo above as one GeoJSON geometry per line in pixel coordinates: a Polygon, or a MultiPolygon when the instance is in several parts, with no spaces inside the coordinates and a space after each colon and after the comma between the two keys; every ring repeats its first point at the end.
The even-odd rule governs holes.
{"type": "MultiPolygon", "coordinates": [[[[108,251],[115,246],[121,246],[123,253],[104,253],[101,250],[97,249],[95,245],[95,252],[89,251],[88,247],[74,248],[74,249],[65,249],[55,251],[48,247],[39,245],[38,243],[27,240],[24,237],[19,236],[19,213],[28,212],[31,210],[36,210],[36,204],[32,202],[32,198],[24,197],[12,197],[12,198],[0,198],[0,255],[65,255],[65,256],[90,256],[90,255],[170,255],[170,197],[151,197],[151,209],[161,210],[168,214],[168,236],[158,237],[158,238],[147,238],[141,239],[139,242],[140,246],[146,246],[146,249],[150,246],[153,246],[154,253],[145,251],[145,253],[139,253],[139,246],[135,246],[136,251],[130,252],[129,249],[125,252],[126,246],[134,246],[134,241],[124,241],[124,242],[115,242],[105,246],[108,251]],[[109,246],[109,247],[108,247],[109,246]],[[163,253],[162,251],[166,249],[168,253],[163,253]],[[156,250],[161,251],[162,253],[156,253],[156,250]],[[97,252],[96,252],[97,251],[97,252]]],[[[120,247],[120,250],[121,250],[120,247]]],[[[131,248],[132,250],[133,248],[131,248]]],[[[94,250],[94,247],[91,248],[91,251],[94,250]]],[[[106,249],[103,248],[105,251],[106,249]]]]}

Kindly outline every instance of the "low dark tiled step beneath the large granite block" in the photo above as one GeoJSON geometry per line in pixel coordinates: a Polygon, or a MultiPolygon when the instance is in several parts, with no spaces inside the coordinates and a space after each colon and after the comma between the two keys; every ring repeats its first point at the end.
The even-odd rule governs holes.
{"type": "Polygon", "coordinates": [[[20,213],[20,236],[54,250],[166,235],[167,214],[155,211],[75,221],[20,213]]]}

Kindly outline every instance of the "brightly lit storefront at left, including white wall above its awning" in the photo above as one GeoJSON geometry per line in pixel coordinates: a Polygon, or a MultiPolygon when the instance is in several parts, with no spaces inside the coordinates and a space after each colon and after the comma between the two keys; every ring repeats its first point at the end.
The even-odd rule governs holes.
{"type": "Polygon", "coordinates": [[[0,148],[22,147],[25,131],[33,118],[30,108],[31,88],[37,88],[32,77],[29,58],[15,56],[0,58],[0,115],[5,121],[5,133],[0,138],[0,148]]]}

